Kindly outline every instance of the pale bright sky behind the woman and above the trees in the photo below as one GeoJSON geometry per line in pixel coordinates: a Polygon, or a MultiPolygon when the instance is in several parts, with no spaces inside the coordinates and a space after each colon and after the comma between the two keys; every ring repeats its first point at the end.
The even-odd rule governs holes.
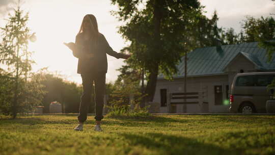
{"type": "MultiPolygon", "coordinates": [[[[214,10],[217,11],[218,26],[234,28],[240,31],[240,22],[245,16],[253,17],[270,16],[275,13],[275,5],[270,0],[201,0],[205,6],[206,15],[210,17],[214,10]]],[[[13,0],[0,0],[0,27],[5,25],[4,18],[12,12],[13,0]]],[[[63,42],[74,42],[81,20],[86,14],[97,17],[99,31],[105,35],[114,50],[120,51],[127,45],[117,27],[121,25],[109,11],[117,9],[107,0],[25,0],[24,11],[30,13],[29,27],[37,33],[37,41],[30,43],[30,49],[36,65],[34,70],[48,67],[49,71],[57,71],[67,80],[81,84],[81,77],[76,73],[77,59],[63,42]]],[[[119,74],[116,69],[123,65],[123,60],[107,57],[108,72],[106,82],[117,79],[119,74]]]]}

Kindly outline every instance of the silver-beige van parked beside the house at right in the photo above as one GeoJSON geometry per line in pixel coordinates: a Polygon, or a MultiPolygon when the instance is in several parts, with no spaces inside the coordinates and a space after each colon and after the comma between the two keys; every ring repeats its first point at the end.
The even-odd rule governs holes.
{"type": "Polygon", "coordinates": [[[270,93],[267,85],[275,79],[275,72],[236,74],[231,86],[230,112],[264,113],[270,93]]]}

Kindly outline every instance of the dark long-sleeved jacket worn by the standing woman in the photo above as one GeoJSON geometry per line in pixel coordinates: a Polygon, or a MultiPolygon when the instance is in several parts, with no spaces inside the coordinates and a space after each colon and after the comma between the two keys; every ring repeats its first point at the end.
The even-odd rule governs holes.
{"type": "Polygon", "coordinates": [[[76,49],[73,56],[78,58],[77,73],[86,74],[91,72],[107,72],[106,54],[121,58],[121,54],[114,51],[102,34],[99,34],[98,42],[85,41],[84,34],[80,33],[75,37],[76,49]],[[93,58],[88,58],[88,54],[93,54],[93,58]]]}

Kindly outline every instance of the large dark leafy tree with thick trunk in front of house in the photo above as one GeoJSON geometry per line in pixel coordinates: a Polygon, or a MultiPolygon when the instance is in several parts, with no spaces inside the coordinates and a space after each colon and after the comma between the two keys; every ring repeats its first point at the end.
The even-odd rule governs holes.
{"type": "Polygon", "coordinates": [[[144,68],[145,93],[148,94],[147,101],[152,101],[159,71],[167,79],[172,79],[184,51],[196,46],[198,35],[203,36],[195,32],[198,30],[195,29],[198,28],[197,23],[202,18],[205,22],[209,20],[202,15],[202,7],[196,0],[112,0],[112,4],[119,7],[119,11],[113,14],[125,22],[119,33],[131,41],[127,51],[132,53],[132,57],[127,61],[132,69],[144,68]]]}

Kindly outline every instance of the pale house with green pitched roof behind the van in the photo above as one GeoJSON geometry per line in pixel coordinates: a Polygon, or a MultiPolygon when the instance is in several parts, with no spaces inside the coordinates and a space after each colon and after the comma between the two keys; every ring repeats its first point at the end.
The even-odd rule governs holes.
{"type": "Polygon", "coordinates": [[[237,73],[275,71],[275,54],[267,63],[266,50],[259,48],[258,42],[197,48],[187,58],[185,97],[171,96],[184,93],[184,57],[173,81],[158,75],[153,102],[159,103],[159,113],[228,112],[237,73]]]}

